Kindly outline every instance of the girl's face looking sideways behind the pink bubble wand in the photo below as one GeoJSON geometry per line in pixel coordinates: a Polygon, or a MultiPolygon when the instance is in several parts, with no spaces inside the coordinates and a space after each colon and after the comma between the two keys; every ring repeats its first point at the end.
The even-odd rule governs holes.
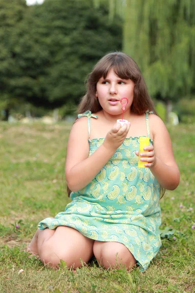
{"type": "MultiPolygon", "coordinates": [[[[113,68],[111,68],[104,79],[101,77],[97,83],[96,97],[103,110],[111,115],[122,113],[121,98],[127,98],[128,104],[125,106],[125,112],[130,113],[130,107],[134,98],[135,84],[131,79],[124,80],[119,78],[113,68]]],[[[123,103],[125,100],[123,100],[123,103]]]]}

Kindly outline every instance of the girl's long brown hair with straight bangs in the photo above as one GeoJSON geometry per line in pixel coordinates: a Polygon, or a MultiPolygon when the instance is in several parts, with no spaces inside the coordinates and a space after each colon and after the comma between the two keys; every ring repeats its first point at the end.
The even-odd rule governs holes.
{"type": "MultiPolygon", "coordinates": [[[[154,103],[149,96],[147,86],[137,63],[129,55],[122,52],[108,53],[94,66],[86,81],[86,94],[80,100],[78,114],[84,113],[87,110],[96,113],[102,109],[96,97],[96,86],[101,77],[106,78],[111,68],[113,68],[119,78],[131,79],[135,84],[131,112],[142,115],[149,110],[157,115],[154,103]]],[[[67,191],[70,196],[71,190],[68,187],[67,191]]],[[[163,196],[164,190],[162,188],[161,193],[163,193],[163,196]]]]}

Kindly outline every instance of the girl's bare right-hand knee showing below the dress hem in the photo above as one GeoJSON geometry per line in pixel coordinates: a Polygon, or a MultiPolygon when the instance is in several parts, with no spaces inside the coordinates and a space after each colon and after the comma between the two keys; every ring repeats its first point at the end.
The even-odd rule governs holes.
{"type": "Polygon", "coordinates": [[[137,263],[133,254],[119,242],[102,242],[95,241],[94,243],[94,255],[98,260],[98,263],[108,269],[118,268],[120,265],[124,265],[127,270],[137,263]]]}

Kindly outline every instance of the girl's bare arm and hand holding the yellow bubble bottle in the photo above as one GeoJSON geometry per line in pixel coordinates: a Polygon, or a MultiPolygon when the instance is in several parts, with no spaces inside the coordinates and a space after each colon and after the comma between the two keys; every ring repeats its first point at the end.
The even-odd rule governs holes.
{"type": "Polygon", "coordinates": [[[166,189],[174,190],[179,184],[179,169],[174,158],[171,139],[162,120],[151,115],[150,126],[154,135],[154,145],[145,147],[143,153],[145,166],[150,167],[159,184],[166,189]]]}

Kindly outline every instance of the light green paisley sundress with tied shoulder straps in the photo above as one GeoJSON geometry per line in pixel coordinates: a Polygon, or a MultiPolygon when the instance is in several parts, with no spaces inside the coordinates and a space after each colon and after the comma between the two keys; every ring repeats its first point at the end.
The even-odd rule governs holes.
{"type": "MultiPolygon", "coordinates": [[[[98,117],[90,111],[78,118],[82,116],[88,117],[90,137],[90,119],[98,117]]],[[[89,139],[89,156],[103,141],[89,139]]],[[[94,240],[123,243],[140,271],[146,270],[161,246],[160,186],[149,168],[137,167],[138,149],[138,137],[126,138],[97,176],[85,188],[71,193],[72,202],[65,210],[41,221],[39,229],[68,226],[94,240]]]]}

